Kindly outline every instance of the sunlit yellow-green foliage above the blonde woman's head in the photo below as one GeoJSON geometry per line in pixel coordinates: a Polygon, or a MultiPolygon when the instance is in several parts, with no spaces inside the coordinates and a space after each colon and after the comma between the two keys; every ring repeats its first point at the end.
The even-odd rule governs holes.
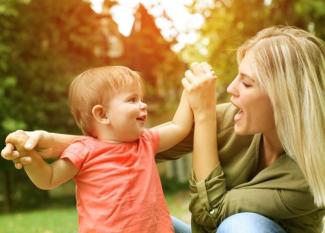
{"type": "Polygon", "coordinates": [[[262,28],[294,25],[325,38],[323,0],[215,1],[205,8],[199,8],[199,3],[194,1],[191,9],[205,16],[205,24],[199,40],[187,46],[182,56],[190,62],[205,60],[216,69],[222,100],[226,99],[226,86],[236,75],[236,49],[262,28]]]}

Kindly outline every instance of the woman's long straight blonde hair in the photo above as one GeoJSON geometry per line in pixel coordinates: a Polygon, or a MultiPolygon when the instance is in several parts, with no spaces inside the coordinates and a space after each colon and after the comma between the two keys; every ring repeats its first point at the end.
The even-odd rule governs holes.
{"type": "Polygon", "coordinates": [[[284,150],[305,175],[315,204],[325,207],[324,41],[301,29],[270,27],[239,48],[238,61],[248,52],[284,150]]]}

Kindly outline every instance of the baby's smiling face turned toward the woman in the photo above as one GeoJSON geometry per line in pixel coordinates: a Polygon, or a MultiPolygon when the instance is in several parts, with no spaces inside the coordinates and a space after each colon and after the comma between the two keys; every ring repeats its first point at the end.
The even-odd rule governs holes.
{"type": "Polygon", "coordinates": [[[147,104],[142,102],[141,90],[124,88],[109,102],[108,117],[119,141],[134,141],[143,132],[147,120],[147,104]]]}

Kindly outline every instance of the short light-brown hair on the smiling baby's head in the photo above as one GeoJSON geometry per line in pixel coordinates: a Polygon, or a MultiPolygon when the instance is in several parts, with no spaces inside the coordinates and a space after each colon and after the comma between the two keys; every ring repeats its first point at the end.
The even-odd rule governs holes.
{"type": "Polygon", "coordinates": [[[69,87],[71,113],[82,132],[93,136],[92,108],[103,105],[121,89],[136,87],[142,91],[140,75],[124,66],[104,66],[86,70],[69,87]]]}

